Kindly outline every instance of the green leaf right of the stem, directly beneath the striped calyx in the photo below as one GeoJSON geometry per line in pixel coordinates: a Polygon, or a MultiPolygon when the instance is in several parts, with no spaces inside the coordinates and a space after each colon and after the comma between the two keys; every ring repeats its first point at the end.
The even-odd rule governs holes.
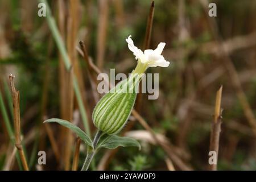
{"type": "Polygon", "coordinates": [[[114,149],[117,147],[138,147],[141,150],[141,144],[133,138],[130,137],[118,137],[117,135],[106,135],[104,139],[102,139],[97,148],[108,148],[114,149]]]}

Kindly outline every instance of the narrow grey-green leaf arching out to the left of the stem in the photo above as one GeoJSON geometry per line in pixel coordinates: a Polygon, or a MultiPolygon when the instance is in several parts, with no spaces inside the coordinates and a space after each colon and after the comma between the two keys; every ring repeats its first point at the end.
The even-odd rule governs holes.
{"type": "Polygon", "coordinates": [[[69,121],[65,121],[63,119],[57,119],[57,118],[51,118],[51,119],[47,119],[46,121],[44,121],[44,123],[59,123],[62,126],[67,127],[68,129],[71,129],[74,133],[77,134],[77,136],[79,136],[86,144],[88,144],[89,146],[93,146],[92,144],[92,140],[88,137],[88,135],[86,135],[86,133],[84,133],[84,131],[82,131],[79,127],[77,127],[76,125],[73,125],[73,123],[69,122],[69,121]]]}

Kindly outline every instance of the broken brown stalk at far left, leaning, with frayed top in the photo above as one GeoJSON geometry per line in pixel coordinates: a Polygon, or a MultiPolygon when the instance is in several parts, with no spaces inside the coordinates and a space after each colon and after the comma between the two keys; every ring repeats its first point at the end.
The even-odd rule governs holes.
{"type": "Polygon", "coordinates": [[[10,74],[11,96],[13,97],[13,115],[14,115],[14,133],[15,146],[19,151],[20,159],[22,160],[23,168],[28,171],[27,160],[24,155],[22,143],[20,140],[20,113],[19,113],[19,91],[15,89],[14,76],[10,74]]]}

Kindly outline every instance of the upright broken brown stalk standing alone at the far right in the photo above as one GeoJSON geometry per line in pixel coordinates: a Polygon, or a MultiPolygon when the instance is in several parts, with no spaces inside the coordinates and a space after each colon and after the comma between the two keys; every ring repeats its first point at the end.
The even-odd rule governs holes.
{"type": "MultiPolygon", "coordinates": [[[[222,97],[222,86],[216,93],[216,103],[214,111],[214,119],[212,122],[212,132],[210,134],[210,151],[216,152],[216,158],[218,159],[218,147],[220,141],[221,132],[221,97],[222,97]]],[[[217,164],[209,164],[209,169],[212,171],[217,170],[217,164]]]]}

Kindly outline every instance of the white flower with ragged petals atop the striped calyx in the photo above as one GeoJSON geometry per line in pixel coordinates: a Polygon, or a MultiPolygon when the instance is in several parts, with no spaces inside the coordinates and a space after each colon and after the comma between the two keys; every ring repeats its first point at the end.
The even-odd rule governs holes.
{"type": "Polygon", "coordinates": [[[170,62],[166,61],[161,55],[166,43],[161,42],[158,44],[158,47],[155,50],[146,49],[144,52],[142,52],[141,49],[134,46],[133,40],[131,40],[131,35],[126,39],[126,42],[128,43],[128,48],[130,51],[133,52],[135,59],[140,61],[142,64],[146,64],[147,67],[169,66],[170,62]]]}

